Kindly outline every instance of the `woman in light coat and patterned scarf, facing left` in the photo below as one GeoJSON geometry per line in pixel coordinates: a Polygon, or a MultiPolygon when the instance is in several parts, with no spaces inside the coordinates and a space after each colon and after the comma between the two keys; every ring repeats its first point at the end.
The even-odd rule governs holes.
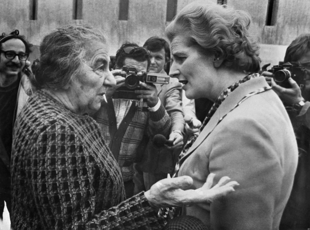
{"type": "Polygon", "coordinates": [[[297,145],[286,110],[259,70],[258,47],[250,43],[250,16],[229,6],[193,2],[167,26],[170,77],[189,99],[214,105],[198,136],[185,146],[178,176],[192,189],[228,175],[236,192],[212,202],[184,206],[211,229],[278,229],[293,186],[297,145]]]}

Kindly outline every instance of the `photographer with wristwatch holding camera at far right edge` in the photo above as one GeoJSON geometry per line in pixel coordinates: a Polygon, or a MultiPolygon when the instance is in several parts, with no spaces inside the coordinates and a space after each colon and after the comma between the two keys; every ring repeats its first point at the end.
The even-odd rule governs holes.
{"type": "MultiPolygon", "coordinates": [[[[288,68],[288,70],[294,71],[290,71],[292,77],[289,77],[286,83],[280,83],[285,87],[276,83],[274,74],[266,71],[262,73],[286,106],[299,147],[299,162],[294,186],[281,219],[280,229],[309,229],[310,34],[300,35],[288,46],[284,57],[284,66],[287,62],[290,62],[296,71],[288,68]]],[[[265,67],[267,66],[265,65],[265,67]]]]}

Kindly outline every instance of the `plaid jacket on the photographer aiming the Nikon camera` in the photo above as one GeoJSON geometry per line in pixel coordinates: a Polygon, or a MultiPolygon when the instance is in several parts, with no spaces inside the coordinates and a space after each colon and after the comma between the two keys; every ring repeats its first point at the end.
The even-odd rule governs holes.
{"type": "MultiPolygon", "coordinates": [[[[119,100],[125,101],[122,99],[119,100]]],[[[100,126],[104,140],[109,143],[109,147],[111,147],[112,141],[113,145],[120,145],[117,161],[122,169],[123,180],[129,181],[134,175],[133,162],[136,153],[139,150],[144,150],[148,142],[148,139],[145,140],[144,138],[153,139],[156,134],[162,134],[166,138],[169,137],[171,127],[170,117],[162,104],[155,112],[144,111],[141,107],[137,107],[134,110],[129,110],[117,129],[116,122],[109,120],[108,113],[113,114],[113,118],[116,120],[113,104],[102,102],[101,108],[96,112],[94,118],[100,126]],[[130,112],[134,113],[133,118],[128,124],[125,124],[126,116],[130,112]],[[124,126],[124,130],[122,130],[124,126]],[[113,130],[117,131],[113,133],[113,130]],[[121,137],[122,135],[124,136],[121,137]]],[[[113,148],[111,148],[111,151],[113,154],[117,154],[113,148]]]]}

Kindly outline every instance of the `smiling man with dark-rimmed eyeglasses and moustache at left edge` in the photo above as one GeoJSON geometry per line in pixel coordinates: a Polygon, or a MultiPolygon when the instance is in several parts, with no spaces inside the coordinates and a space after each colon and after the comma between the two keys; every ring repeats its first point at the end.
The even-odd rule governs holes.
{"type": "Polygon", "coordinates": [[[4,201],[11,211],[10,159],[14,121],[30,94],[26,70],[31,44],[15,30],[0,36],[0,217],[4,201]],[[27,94],[28,93],[28,94],[27,94]]]}

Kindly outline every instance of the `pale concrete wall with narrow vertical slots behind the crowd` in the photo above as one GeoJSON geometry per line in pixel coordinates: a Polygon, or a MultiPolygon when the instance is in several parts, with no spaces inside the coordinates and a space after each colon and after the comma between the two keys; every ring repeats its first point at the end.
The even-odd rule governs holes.
{"type": "MultiPolygon", "coordinates": [[[[30,1],[32,0],[1,0],[0,32],[9,33],[13,29],[19,29],[36,46],[52,29],[66,24],[90,23],[106,32],[110,55],[115,55],[126,41],[142,45],[150,36],[163,36],[167,24],[167,0],[129,0],[127,21],[118,20],[119,0],[83,0],[82,20],[72,19],[73,0],[38,0],[38,19],[29,20],[30,1]]],[[[278,0],[277,22],[274,26],[265,25],[268,1],[227,0],[228,5],[235,9],[250,13],[253,19],[250,33],[259,43],[288,45],[299,34],[310,33],[310,0],[278,0]]],[[[178,0],[177,11],[189,2],[192,0],[178,0]]],[[[268,47],[265,51],[264,47],[266,46],[261,48],[261,54],[270,50],[268,47]]],[[[35,47],[31,57],[37,55],[35,47]]]]}

